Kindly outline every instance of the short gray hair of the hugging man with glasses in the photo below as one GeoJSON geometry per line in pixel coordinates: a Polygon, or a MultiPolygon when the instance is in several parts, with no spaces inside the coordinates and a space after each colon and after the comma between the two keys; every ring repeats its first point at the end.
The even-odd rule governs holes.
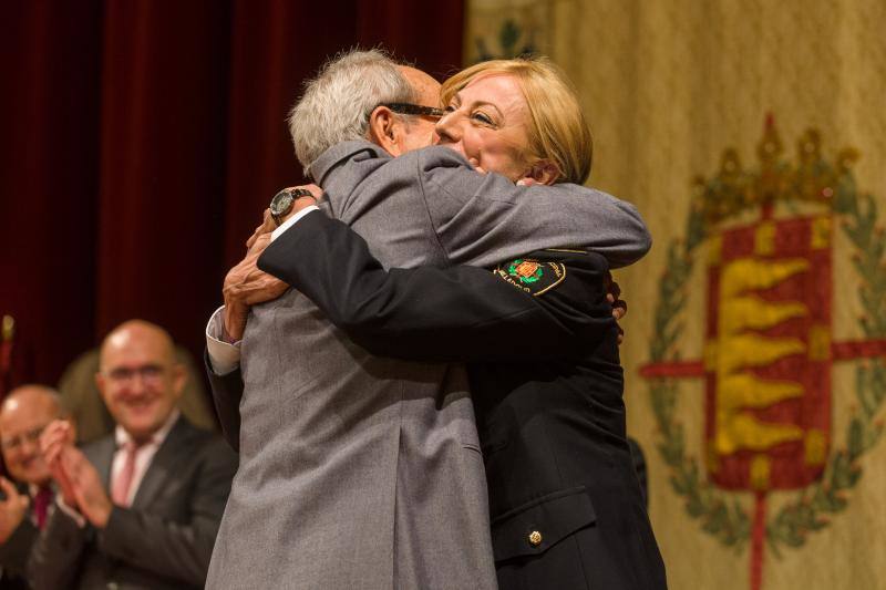
{"type": "Polygon", "coordinates": [[[337,143],[365,139],[369,115],[379,104],[415,100],[398,64],[380,50],[352,50],[328,61],[289,113],[289,134],[306,174],[337,143]]]}

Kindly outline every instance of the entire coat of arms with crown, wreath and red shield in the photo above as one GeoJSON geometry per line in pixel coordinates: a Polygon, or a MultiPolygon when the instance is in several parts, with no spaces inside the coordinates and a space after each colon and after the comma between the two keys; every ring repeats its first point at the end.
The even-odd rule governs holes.
{"type": "MultiPolygon", "coordinates": [[[[719,174],[696,182],[683,239],[673,240],[655,314],[649,379],[658,449],[671,485],[701,528],[743,551],[750,541],[753,590],[762,584],[763,547],[774,555],[801,547],[848,501],[862,476],[859,457],[883,434],[886,397],[886,240],[877,207],[857,190],[853,149],[835,162],[820,134],[801,137],[799,157],[782,157],[769,117],[760,166],[742,168],[728,149],[719,174]],[[855,250],[864,339],[832,339],[833,239],[842,230],[855,250]],[[682,360],[688,280],[707,261],[704,354],[682,360]],[[854,362],[856,411],[846,432],[832,432],[835,362],[854,362]],[[680,379],[704,380],[704,448],[691,457],[674,420],[680,379]],[[766,495],[795,493],[767,514],[766,495]],[[751,493],[753,505],[730,497],[751,493]]],[[[854,291],[853,291],[854,292],[854,291]]],[[[848,297],[848,293],[847,293],[848,297]]]]}

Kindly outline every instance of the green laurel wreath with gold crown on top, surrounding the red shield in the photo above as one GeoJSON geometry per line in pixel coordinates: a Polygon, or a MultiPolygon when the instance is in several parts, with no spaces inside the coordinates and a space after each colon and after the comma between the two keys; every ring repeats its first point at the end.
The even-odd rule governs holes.
{"type": "MultiPolygon", "coordinates": [[[[886,338],[886,240],[883,228],[876,226],[876,201],[856,187],[852,165],[858,155],[854,149],[844,149],[835,165],[828,163],[821,156],[821,139],[813,130],[802,136],[799,146],[797,164],[780,158],[781,142],[770,121],[758,149],[759,170],[742,172],[738,154],[730,149],[718,175],[696,180],[686,238],[668,245],[667,270],[655,308],[651,363],[681,360],[677,341],[683,331],[680,317],[687,302],[687,282],[709,228],[742,210],[775,200],[826,204],[839,216],[843,232],[854,247],[852,262],[862,281],[858,297],[865,315],[859,319],[859,327],[868,339],[886,338]]],[[[683,426],[674,418],[678,393],[676,379],[650,382],[649,398],[659,431],[657,448],[670,468],[670,484],[684,499],[687,513],[700,520],[705,532],[742,551],[751,534],[751,516],[738,498],[729,498],[714,487],[699,462],[687,454],[683,426]]],[[[821,479],[800,490],[766,522],[766,538],[776,556],[781,547],[803,546],[812,531],[825,528],[828,517],[846,507],[848,490],[862,477],[859,458],[883,434],[883,423],[876,416],[886,397],[884,359],[857,364],[855,395],[857,407],[844,441],[832,451],[821,479]]]]}

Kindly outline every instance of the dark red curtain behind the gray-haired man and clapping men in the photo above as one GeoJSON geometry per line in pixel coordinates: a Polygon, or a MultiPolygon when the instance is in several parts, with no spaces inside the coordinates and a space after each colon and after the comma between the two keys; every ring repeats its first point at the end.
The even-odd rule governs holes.
{"type": "Polygon", "coordinates": [[[0,8],[0,314],[13,384],[54,383],[143,318],[195,355],[272,194],[302,182],[285,117],[338,51],[441,77],[462,1],[80,0],[0,8]]]}

